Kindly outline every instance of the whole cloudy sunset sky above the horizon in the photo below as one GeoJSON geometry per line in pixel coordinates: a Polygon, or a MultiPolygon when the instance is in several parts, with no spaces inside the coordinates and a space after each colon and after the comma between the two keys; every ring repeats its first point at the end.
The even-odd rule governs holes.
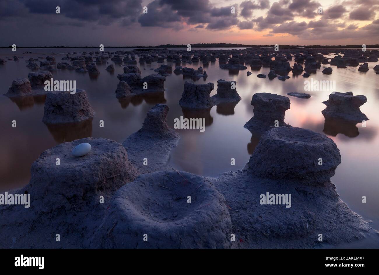
{"type": "Polygon", "coordinates": [[[0,46],[379,44],[379,0],[0,0],[0,34],[0,46]]]}

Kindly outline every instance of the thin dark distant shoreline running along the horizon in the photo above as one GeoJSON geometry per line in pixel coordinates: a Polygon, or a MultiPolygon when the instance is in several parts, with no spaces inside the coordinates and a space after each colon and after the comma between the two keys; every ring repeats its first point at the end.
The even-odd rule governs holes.
{"type": "MultiPolygon", "coordinates": [[[[205,43],[205,44],[191,44],[192,48],[270,48],[274,47],[274,45],[243,45],[243,44],[229,44],[229,43],[205,43]]],[[[12,46],[7,47],[0,47],[0,49],[11,49],[12,46]]],[[[35,47],[24,47],[24,46],[17,46],[19,49],[96,49],[99,48],[99,46],[35,46],[35,47]]],[[[104,48],[147,48],[147,49],[162,49],[162,48],[187,48],[187,45],[173,45],[173,44],[166,44],[166,45],[159,45],[159,46],[104,46],[104,48]]],[[[346,49],[346,48],[362,48],[362,45],[328,45],[328,46],[322,46],[322,45],[307,45],[307,46],[299,46],[299,45],[280,45],[280,48],[286,49],[286,48],[307,48],[307,49],[346,49]]],[[[366,48],[371,49],[379,49],[379,44],[375,45],[366,45],[366,48]]]]}

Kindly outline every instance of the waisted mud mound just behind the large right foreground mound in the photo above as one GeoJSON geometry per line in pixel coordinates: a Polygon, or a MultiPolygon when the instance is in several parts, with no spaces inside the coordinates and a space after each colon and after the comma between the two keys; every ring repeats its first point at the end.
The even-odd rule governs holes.
{"type": "Polygon", "coordinates": [[[284,115],[291,105],[287,96],[256,93],[252,97],[251,105],[254,106],[254,116],[244,125],[251,132],[263,134],[271,128],[287,126],[284,115]]]}

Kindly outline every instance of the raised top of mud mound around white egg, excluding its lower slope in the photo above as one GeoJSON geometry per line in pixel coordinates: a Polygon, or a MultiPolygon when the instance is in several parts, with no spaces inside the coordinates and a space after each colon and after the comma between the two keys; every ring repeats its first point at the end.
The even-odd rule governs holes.
{"type": "Polygon", "coordinates": [[[106,138],[82,138],[43,152],[31,166],[31,180],[23,191],[36,198],[37,212],[49,212],[66,204],[97,201],[97,195],[113,195],[137,175],[121,144],[106,138]],[[80,143],[89,143],[91,151],[72,156],[72,149],[80,143]],[[56,165],[57,158],[60,165],[56,165]]]}

